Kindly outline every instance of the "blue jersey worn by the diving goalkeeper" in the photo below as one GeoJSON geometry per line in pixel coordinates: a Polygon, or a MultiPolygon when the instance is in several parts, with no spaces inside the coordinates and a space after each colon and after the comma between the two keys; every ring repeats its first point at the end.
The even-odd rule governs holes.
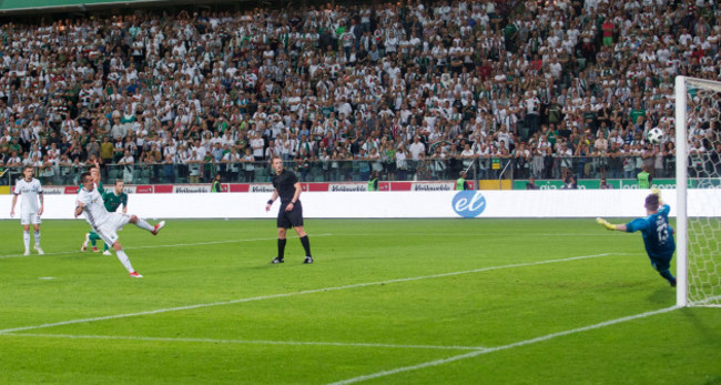
{"type": "Polygon", "coordinates": [[[641,232],[646,252],[651,259],[670,260],[676,251],[673,227],[669,224],[669,211],[671,207],[664,204],[656,214],[636,219],[626,225],[626,231],[629,233],[641,232]]]}

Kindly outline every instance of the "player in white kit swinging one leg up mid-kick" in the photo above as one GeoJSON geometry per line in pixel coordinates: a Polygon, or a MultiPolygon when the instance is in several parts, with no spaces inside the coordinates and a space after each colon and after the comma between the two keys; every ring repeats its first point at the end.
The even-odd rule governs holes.
{"type": "Polygon", "coordinates": [[[120,263],[125,266],[128,273],[133,278],[142,278],[133,266],[130,264],[130,260],[123,250],[123,246],[118,242],[118,230],[122,229],[129,222],[136,225],[140,229],[148,230],[153,235],[158,235],[158,232],[165,226],[165,221],[159,222],[154,227],[151,226],[144,220],[139,219],[135,215],[128,215],[125,213],[109,213],[105,210],[103,197],[95,188],[95,183],[89,172],[83,172],[80,175],[82,181],[82,189],[78,193],[78,205],[75,206],[75,217],[80,214],[85,215],[85,221],[90,224],[92,230],[100,235],[100,239],[103,240],[115,250],[115,255],[120,263]]]}

